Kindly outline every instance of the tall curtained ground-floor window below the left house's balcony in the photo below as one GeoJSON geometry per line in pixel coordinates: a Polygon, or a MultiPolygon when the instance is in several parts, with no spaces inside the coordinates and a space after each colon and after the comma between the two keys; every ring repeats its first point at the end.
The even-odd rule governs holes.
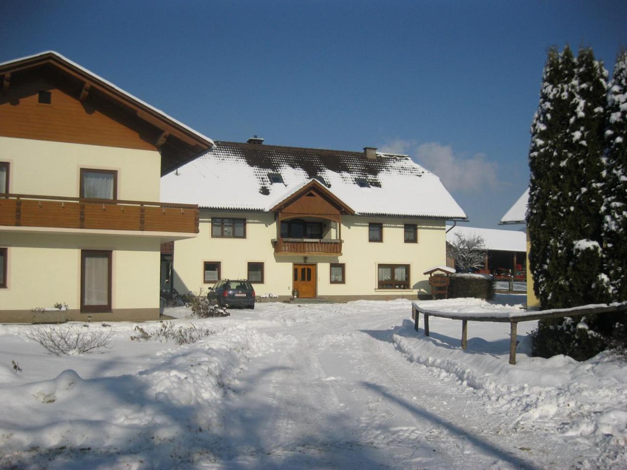
{"type": "Polygon", "coordinates": [[[81,251],[80,310],[111,311],[111,251],[81,251]]]}

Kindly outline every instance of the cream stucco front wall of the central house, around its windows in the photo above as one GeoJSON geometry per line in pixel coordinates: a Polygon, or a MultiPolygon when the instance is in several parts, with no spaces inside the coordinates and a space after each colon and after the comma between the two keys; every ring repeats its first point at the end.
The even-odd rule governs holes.
{"type": "MultiPolygon", "coordinates": [[[[181,293],[205,290],[203,262],[219,261],[221,278],[246,278],[249,262],[264,263],[265,282],[256,283],[257,295],[292,293],[292,263],[303,263],[302,256],[275,255],[271,239],[277,238],[274,214],[255,212],[201,211],[198,238],[174,243],[174,288],[181,293]],[[211,216],[246,218],[246,238],[212,238],[211,216]]],[[[365,296],[429,293],[425,269],[445,264],[446,243],[443,221],[388,217],[344,216],[341,256],[308,256],[317,264],[318,296],[365,296]],[[368,223],[383,224],[383,242],[369,243],[368,223]],[[418,224],[418,243],[404,243],[404,224],[418,224]],[[330,263],[345,263],[345,284],[330,284],[330,263]],[[377,264],[409,264],[411,290],[378,290],[377,264]]]]}

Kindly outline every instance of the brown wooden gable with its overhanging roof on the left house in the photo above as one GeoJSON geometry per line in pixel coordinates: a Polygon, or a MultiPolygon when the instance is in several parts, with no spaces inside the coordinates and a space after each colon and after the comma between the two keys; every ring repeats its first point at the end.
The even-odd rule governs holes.
{"type": "Polygon", "coordinates": [[[0,65],[0,135],[159,150],[161,174],[213,141],[53,52],[0,65]],[[50,92],[50,103],[40,92],[50,92]]]}

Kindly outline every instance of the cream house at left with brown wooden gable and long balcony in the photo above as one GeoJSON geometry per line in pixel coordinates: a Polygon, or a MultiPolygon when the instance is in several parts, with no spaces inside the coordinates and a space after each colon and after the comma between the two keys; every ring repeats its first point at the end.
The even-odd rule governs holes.
{"type": "Polygon", "coordinates": [[[213,141],[55,52],[0,87],[0,322],[159,318],[161,243],[199,213],[160,178],[213,141]]]}

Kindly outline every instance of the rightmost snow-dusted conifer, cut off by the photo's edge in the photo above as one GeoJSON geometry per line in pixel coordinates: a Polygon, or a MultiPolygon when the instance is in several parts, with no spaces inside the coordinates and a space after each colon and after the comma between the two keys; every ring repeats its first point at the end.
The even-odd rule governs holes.
{"type": "Polygon", "coordinates": [[[608,87],[606,184],[603,207],[605,264],[613,300],[627,300],[627,50],[621,51],[608,87]]]}

